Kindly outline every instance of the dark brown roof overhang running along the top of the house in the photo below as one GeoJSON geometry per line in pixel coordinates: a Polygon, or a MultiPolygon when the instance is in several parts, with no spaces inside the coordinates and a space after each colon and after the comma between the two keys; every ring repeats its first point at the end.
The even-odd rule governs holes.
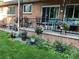
{"type": "MultiPolygon", "coordinates": [[[[64,0],[20,0],[21,3],[33,3],[33,2],[59,2],[63,3],[64,0]]],[[[67,4],[79,4],[79,0],[65,0],[67,4]]],[[[16,5],[18,4],[18,0],[8,1],[8,2],[1,2],[0,6],[7,6],[7,5],[16,5]]]]}

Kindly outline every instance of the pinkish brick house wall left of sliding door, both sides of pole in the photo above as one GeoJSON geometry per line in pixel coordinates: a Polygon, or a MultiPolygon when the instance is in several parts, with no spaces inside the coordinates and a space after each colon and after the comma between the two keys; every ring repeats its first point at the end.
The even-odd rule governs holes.
{"type": "MultiPolygon", "coordinates": [[[[20,16],[21,17],[27,17],[27,18],[36,18],[41,16],[41,3],[29,3],[32,4],[32,13],[23,13],[23,5],[20,7],[20,16]]],[[[2,20],[5,20],[7,24],[12,23],[12,20],[18,17],[18,5],[10,5],[15,6],[16,12],[15,15],[8,15],[8,7],[9,6],[2,6],[0,8],[3,8],[4,18],[2,20]]]]}

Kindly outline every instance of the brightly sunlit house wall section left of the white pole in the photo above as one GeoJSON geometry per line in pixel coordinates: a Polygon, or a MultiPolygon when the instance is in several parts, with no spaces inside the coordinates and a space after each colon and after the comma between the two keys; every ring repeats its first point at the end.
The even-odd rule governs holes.
{"type": "MultiPolygon", "coordinates": [[[[16,5],[10,5],[10,6],[15,6],[15,8],[17,8],[16,5]]],[[[15,14],[8,14],[8,8],[10,6],[2,6],[0,8],[3,9],[3,15],[2,15],[2,18],[0,18],[1,20],[0,21],[3,21],[4,23],[6,24],[10,24],[13,22],[13,19],[15,18],[15,16],[17,16],[17,9],[16,9],[16,12],[15,14]]]]}

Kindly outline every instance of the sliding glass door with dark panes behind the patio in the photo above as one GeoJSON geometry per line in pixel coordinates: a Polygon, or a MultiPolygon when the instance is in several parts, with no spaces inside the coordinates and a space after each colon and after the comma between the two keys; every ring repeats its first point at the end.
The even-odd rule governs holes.
{"type": "Polygon", "coordinates": [[[42,22],[49,22],[57,19],[59,15],[59,7],[43,7],[42,8],[42,22]]]}

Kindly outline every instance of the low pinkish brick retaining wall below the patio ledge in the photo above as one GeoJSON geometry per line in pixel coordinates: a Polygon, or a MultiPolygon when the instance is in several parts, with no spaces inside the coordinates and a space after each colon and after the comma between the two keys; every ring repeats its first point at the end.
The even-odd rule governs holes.
{"type": "MultiPolygon", "coordinates": [[[[36,35],[34,32],[28,32],[29,36],[36,35]]],[[[49,40],[50,42],[54,42],[56,40],[63,41],[69,45],[79,47],[79,40],[73,38],[67,38],[62,36],[50,35],[50,34],[42,34],[42,38],[45,40],[49,40]]]]}

